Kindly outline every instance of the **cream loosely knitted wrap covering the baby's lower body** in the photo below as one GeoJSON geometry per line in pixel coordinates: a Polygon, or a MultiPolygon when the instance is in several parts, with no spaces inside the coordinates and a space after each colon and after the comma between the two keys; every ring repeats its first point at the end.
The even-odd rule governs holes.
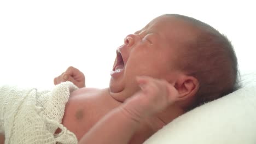
{"type": "Polygon", "coordinates": [[[0,131],[5,143],[77,143],[77,137],[61,124],[70,92],[64,82],[52,91],[0,87],[0,131]],[[54,134],[60,128],[60,134],[54,134]]]}

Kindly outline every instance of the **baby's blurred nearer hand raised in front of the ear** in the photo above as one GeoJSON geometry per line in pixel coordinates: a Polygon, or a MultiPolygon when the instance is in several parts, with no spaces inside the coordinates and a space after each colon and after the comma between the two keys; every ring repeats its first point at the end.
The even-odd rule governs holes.
{"type": "Polygon", "coordinates": [[[141,91],[127,99],[123,105],[126,112],[135,121],[152,116],[167,106],[175,103],[178,91],[166,80],[153,79],[148,76],[137,77],[141,91]]]}

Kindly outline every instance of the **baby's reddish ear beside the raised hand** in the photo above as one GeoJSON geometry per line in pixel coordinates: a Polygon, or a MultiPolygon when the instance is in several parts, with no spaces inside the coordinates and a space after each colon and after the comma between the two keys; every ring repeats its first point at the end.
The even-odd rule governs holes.
{"type": "Polygon", "coordinates": [[[193,99],[199,89],[199,81],[188,75],[181,75],[176,80],[174,87],[177,89],[180,101],[193,99]]]}

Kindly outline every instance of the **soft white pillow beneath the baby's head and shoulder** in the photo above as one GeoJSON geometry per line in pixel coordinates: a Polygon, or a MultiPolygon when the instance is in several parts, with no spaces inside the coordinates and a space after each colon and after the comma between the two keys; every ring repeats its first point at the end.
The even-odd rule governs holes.
{"type": "Polygon", "coordinates": [[[255,144],[255,83],[185,113],[144,143],[255,144]]]}

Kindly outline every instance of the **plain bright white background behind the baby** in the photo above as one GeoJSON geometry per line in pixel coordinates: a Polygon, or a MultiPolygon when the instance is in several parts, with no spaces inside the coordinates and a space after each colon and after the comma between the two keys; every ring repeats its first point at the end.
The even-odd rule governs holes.
{"type": "Polygon", "coordinates": [[[87,87],[108,87],[125,36],[165,13],[217,28],[232,41],[241,73],[256,69],[253,1],[2,0],[0,85],[50,88],[73,65],[84,72],[87,87]]]}

